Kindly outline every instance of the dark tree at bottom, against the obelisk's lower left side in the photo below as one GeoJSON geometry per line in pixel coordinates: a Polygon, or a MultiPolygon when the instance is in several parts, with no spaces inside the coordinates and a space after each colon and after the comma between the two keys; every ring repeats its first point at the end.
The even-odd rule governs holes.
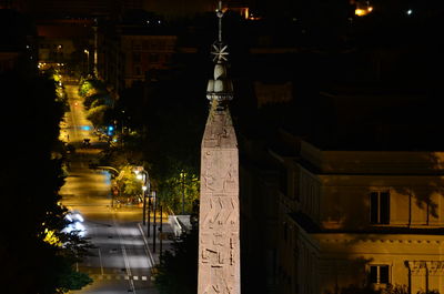
{"type": "Polygon", "coordinates": [[[183,233],[154,267],[154,284],[161,294],[193,294],[198,288],[198,230],[183,233]]]}

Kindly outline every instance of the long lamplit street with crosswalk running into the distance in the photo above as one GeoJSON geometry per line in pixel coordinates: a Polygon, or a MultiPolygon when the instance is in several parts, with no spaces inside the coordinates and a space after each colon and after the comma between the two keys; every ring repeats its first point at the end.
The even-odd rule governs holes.
{"type": "Polygon", "coordinates": [[[110,173],[89,169],[100,149],[77,89],[77,84],[65,84],[71,111],[61,125],[61,139],[77,149],[70,154],[69,176],[60,194],[63,205],[83,216],[84,235],[95,247],[77,266],[93,284],[72,293],[158,293],[150,280],[152,255],[139,229],[142,210],[111,207],[110,173]],[[85,138],[90,146],[82,146],[85,138]]]}

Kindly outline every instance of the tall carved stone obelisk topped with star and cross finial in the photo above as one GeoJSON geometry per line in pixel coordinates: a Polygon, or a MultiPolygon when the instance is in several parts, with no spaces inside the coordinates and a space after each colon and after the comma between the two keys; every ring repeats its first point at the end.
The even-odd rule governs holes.
{"type": "Polygon", "coordinates": [[[210,113],[202,140],[198,294],[240,294],[239,152],[228,108],[233,85],[222,43],[222,2],[216,10],[214,79],[209,80],[210,113]]]}

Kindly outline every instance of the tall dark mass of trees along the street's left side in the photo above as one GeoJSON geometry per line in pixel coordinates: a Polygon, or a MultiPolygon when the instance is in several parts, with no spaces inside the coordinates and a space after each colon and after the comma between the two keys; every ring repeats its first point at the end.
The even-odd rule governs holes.
{"type": "Polygon", "coordinates": [[[8,72],[0,74],[0,87],[6,110],[0,123],[7,126],[0,168],[0,221],[6,224],[0,262],[8,268],[0,276],[1,292],[52,294],[69,288],[63,281],[85,285],[87,280],[70,276],[88,242],[60,232],[67,211],[58,205],[58,191],[64,173],[54,150],[60,148],[63,103],[56,97],[54,81],[8,72]],[[64,246],[46,242],[48,232],[64,246]]]}

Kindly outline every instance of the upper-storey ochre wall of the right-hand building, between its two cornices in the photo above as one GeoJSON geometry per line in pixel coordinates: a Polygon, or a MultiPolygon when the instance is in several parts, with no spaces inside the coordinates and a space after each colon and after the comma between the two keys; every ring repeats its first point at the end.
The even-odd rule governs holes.
{"type": "Polygon", "coordinates": [[[390,226],[444,225],[442,176],[322,175],[321,222],[325,229],[356,230],[371,225],[370,193],[390,193],[390,226]]]}

